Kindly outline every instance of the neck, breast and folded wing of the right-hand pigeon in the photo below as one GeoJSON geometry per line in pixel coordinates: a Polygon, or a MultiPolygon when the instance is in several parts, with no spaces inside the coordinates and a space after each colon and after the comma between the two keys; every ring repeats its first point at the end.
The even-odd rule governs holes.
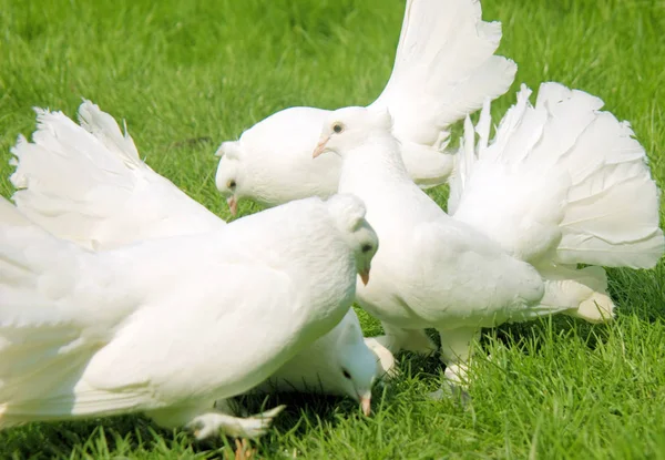
{"type": "Polygon", "coordinates": [[[339,190],[366,201],[379,239],[389,242],[376,255],[371,283],[358,286],[359,304],[406,329],[436,324],[454,329],[494,326],[539,300],[538,272],[443,213],[409,180],[397,152],[393,139],[381,133],[345,152],[339,190]],[[483,307],[477,311],[469,305],[483,307]]]}

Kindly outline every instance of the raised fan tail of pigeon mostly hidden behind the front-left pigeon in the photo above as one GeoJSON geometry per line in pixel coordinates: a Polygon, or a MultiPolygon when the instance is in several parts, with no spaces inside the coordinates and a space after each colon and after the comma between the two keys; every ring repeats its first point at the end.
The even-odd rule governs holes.
{"type": "Polygon", "coordinates": [[[142,238],[207,232],[224,222],[139,157],[129,133],[90,101],[81,125],[37,110],[32,142],[12,149],[13,200],[60,238],[110,248],[142,238]]]}

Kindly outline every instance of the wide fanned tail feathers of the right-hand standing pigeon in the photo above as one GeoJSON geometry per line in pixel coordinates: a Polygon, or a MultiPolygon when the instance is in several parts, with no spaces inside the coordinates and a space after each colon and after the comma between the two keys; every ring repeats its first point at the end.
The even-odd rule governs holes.
{"type": "Polygon", "coordinates": [[[659,192],[630,125],[582,91],[544,83],[535,108],[530,93],[489,145],[489,110],[475,150],[467,124],[450,211],[528,262],[653,267],[665,248],[659,192]]]}

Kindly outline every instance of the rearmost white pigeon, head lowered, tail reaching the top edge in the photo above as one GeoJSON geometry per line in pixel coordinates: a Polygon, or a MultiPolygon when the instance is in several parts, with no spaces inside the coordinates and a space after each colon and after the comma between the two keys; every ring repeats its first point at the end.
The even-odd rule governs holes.
{"type": "MultiPolygon", "coordinates": [[[[407,1],[392,73],[369,106],[390,110],[402,160],[420,186],[442,184],[452,171],[449,126],[512,84],[516,65],[493,55],[500,41],[501,23],[482,21],[478,0],[407,1]]],[[[329,114],[285,109],[222,144],[216,183],[233,214],[241,198],[274,206],[337,191],[341,160],[310,157],[329,114]]]]}

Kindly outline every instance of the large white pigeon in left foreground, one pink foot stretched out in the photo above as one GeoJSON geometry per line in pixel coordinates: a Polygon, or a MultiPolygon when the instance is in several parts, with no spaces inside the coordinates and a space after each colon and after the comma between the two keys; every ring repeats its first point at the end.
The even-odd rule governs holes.
{"type": "Polygon", "coordinates": [[[0,428],[145,412],[256,437],[214,401],[273,375],[348,311],[378,239],[352,195],[214,232],[91,252],[0,198],[0,428]]]}

